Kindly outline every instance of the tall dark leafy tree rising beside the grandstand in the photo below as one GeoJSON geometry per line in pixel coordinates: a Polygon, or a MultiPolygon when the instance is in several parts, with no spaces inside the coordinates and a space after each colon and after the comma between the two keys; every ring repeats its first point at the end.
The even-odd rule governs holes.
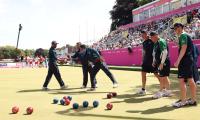
{"type": "Polygon", "coordinates": [[[110,31],[116,30],[121,25],[132,23],[132,10],[155,0],[116,0],[110,11],[112,23],[110,31]]]}

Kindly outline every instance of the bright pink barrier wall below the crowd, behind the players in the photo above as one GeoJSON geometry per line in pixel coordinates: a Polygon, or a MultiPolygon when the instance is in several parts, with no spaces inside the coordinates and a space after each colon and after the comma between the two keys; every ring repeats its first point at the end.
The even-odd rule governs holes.
{"type": "MultiPolygon", "coordinates": [[[[196,44],[200,50],[200,40],[194,40],[193,43],[196,44]]],[[[171,66],[173,66],[178,57],[178,46],[173,42],[168,43],[168,46],[171,66]]],[[[132,48],[132,52],[129,52],[127,48],[124,48],[101,51],[101,54],[108,65],[141,66],[142,64],[141,46],[132,48]]],[[[200,67],[200,58],[198,58],[198,67],[200,67]]]]}

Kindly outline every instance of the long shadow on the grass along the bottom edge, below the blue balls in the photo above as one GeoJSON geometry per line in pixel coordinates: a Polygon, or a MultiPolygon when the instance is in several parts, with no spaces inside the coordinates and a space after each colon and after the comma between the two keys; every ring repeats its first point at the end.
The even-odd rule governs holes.
{"type": "MultiPolygon", "coordinates": [[[[58,111],[56,112],[59,115],[66,115],[66,116],[73,116],[73,117],[98,117],[101,119],[108,119],[108,118],[113,118],[113,119],[129,119],[129,120],[170,120],[170,119],[157,119],[157,118],[143,118],[143,117],[129,117],[129,116],[120,116],[120,115],[103,115],[103,114],[88,114],[88,113],[83,113],[84,111],[92,110],[94,108],[90,107],[88,109],[85,108],[80,108],[78,110],[74,110],[72,108],[64,110],[64,111],[58,111]]],[[[106,111],[106,110],[105,110],[106,111]]]]}

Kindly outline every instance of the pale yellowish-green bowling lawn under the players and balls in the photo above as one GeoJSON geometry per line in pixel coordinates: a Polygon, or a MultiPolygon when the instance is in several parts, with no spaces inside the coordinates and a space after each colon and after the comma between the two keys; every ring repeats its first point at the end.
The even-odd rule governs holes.
{"type": "MultiPolygon", "coordinates": [[[[147,76],[147,95],[138,96],[135,92],[141,86],[139,71],[111,70],[119,82],[113,89],[109,78],[100,71],[97,75],[98,88],[94,92],[80,89],[82,69],[80,67],[60,67],[61,75],[69,88],[59,90],[53,77],[50,91],[41,91],[47,74],[46,68],[0,69],[0,120],[199,120],[200,106],[174,109],[171,103],[179,96],[177,75],[171,74],[173,97],[153,100],[151,97],[158,91],[159,84],[153,74],[147,76]],[[107,99],[108,92],[118,93],[116,98],[107,99]],[[53,98],[72,96],[69,106],[52,104],[53,98]],[[72,109],[74,102],[82,106],[88,100],[89,107],[72,109]],[[92,102],[99,101],[99,107],[93,108],[92,102]],[[106,104],[113,104],[112,110],[106,110],[106,104]],[[12,106],[19,106],[18,114],[11,114],[12,106]],[[32,115],[26,115],[26,108],[32,106],[32,115]]],[[[88,81],[90,87],[90,81],[88,81]]],[[[199,87],[198,87],[199,88],[199,87]]],[[[188,91],[189,92],[189,91],[188,91]]],[[[198,89],[198,101],[200,102],[198,89]]]]}

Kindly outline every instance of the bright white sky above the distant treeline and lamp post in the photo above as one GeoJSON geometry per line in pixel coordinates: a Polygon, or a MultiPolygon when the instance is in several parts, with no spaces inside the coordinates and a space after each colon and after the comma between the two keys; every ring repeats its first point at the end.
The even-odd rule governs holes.
{"type": "MultiPolygon", "coordinates": [[[[60,44],[97,41],[109,32],[115,0],[0,0],[0,46],[16,46],[19,24],[23,29],[19,48],[49,48],[60,44]],[[80,32],[79,32],[80,31],[80,32]],[[79,35],[80,33],[80,35],[79,35]]],[[[87,42],[87,43],[89,43],[87,42]]]]}

